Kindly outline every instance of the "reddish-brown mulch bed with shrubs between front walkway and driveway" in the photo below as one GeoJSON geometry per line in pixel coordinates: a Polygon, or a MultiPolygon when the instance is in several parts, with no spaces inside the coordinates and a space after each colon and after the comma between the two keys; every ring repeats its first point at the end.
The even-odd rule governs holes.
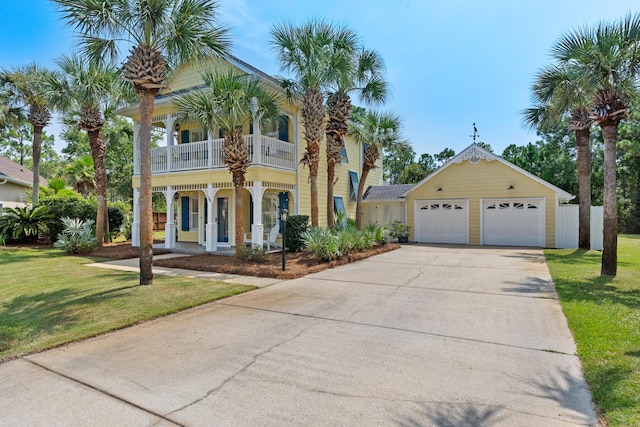
{"type": "Polygon", "coordinates": [[[269,254],[264,264],[243,263],[235,256],[200,254],[178,258],[154,260],[153,265],[169,268],[185,268],[188,270],[209,271],[217,273],[241,274],[244,276],[271,277],[275,279],[295,279],[307,274],[317,273],[327,268],[349,264],[374,255],[389,252],[400,247],[397,243],[389,243],[362,252],[353,252],[348,256],[331,262],[317,260],[310,252],[294,252],[286,254],[285,271],[282,271],[282,254],[269,254]]]}

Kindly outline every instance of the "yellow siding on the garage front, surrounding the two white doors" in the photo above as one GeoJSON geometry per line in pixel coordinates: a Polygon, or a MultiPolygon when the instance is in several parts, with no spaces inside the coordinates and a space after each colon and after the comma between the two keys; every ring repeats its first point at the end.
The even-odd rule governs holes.
{"type": "Polygon", "coordinates": [[[469,199],[469,244],[480,244],[481,199],[545,198],[546,246],[555,246],[556,193],[499,161],[452,164],[407,196],[407,224],[412,226],[414,201],[469,199]],[[514,186],[513,190],[508,190],[514,186]],[[436,191],[442,188],[442,191],[436,191]]]}

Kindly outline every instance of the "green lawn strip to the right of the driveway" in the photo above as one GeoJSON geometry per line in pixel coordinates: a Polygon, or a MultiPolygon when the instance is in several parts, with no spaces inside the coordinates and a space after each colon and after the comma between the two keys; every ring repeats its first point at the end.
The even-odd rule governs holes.
{"type": "Polygon", "coordinates": [[[615,278],[600,252],[545,253],[594,400],[610,426],[640,426],[640,236],[619,236],[615,278]]]}

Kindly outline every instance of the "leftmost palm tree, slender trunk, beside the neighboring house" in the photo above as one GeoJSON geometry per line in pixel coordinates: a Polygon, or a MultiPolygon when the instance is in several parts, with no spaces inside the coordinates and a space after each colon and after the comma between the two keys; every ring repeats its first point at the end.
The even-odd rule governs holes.
{"type": "Polygon", "coordinates": [[[38,65],[0,71],[0,86],[14,105],[28,110],[27,121],[33,126],[33,203],[38,203],[40,190],[40,154],[42,130],[51,121],[51,110],[44,97],[45,81],[50,72],[38,65]]]}

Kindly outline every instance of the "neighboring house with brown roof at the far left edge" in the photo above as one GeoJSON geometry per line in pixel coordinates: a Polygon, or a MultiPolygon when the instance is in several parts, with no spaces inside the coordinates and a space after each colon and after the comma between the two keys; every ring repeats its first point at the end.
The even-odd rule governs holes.
{"type": "MultiPolygon", "coordinates": [[[[40,177],[40,184],[47,180],[40,177]]],[[[33,172],[0,155],[0,208],[15,208],[26,205],[26,191],[33,187],[33,172]]]]}

